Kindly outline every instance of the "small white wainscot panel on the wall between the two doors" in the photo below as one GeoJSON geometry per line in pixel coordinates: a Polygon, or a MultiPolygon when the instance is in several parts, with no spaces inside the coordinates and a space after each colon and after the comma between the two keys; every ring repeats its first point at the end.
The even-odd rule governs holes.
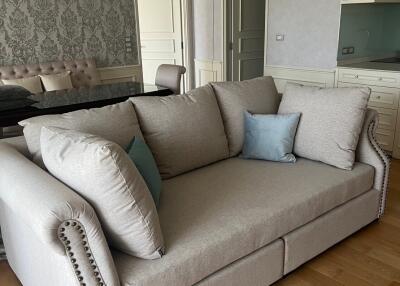
{"type": "Polygon", "coordinates": [[[224,62],[221,60],[194,59],[196,87],[209,82],[224,81],[224,62]]]}

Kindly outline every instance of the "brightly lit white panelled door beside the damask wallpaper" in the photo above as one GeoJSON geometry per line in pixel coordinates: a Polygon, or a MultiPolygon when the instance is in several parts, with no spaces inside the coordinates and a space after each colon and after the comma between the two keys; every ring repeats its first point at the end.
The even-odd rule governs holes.
{"type": "Polygon", "coordinates": [[[181,13],[180,0],[138,0],[143,82],[161,64],[183,65],[181,13]]]}

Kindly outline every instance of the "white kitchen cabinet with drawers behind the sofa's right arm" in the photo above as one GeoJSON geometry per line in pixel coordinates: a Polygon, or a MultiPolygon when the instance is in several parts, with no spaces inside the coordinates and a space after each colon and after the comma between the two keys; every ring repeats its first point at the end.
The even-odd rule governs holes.
{"type": "Polygon", "coordinates": [[[368,107],[379,113],[376,139],[382,148],[400,158],[400,72],[338,68],[338,87],[371,88],[368,107]]]}

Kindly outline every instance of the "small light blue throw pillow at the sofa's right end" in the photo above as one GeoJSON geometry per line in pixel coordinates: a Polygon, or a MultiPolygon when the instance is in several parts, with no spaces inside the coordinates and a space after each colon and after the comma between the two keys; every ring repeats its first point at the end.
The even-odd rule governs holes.
{"type": "Polygon", "coordinates": [[[242,158],[276,162],[296,162],[292,154],[300,113],[245,113],[245,139],[242,158]]]}

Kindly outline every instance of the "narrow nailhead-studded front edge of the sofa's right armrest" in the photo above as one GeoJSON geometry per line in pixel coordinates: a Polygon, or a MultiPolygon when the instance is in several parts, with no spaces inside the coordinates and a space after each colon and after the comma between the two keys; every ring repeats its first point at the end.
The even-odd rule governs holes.
{"type": "Polygon", "coordinates": [[[375,152],[378,154],[380,160],[384,165],[383,171],[383,180],[380,192],[380,205],[378,210],[378,218],[382,217],[385,213],[386,201],[387,201],[387,193],[388,193],[388,183],[389,183],[389,170],[390,170],[390,158],[386,155],[386,153],[379,146],[376,138],[375,131],[377,128],[377,120],[372,120],[368,126],[368,141],[371,146],[374,148],[375,152]]]}

